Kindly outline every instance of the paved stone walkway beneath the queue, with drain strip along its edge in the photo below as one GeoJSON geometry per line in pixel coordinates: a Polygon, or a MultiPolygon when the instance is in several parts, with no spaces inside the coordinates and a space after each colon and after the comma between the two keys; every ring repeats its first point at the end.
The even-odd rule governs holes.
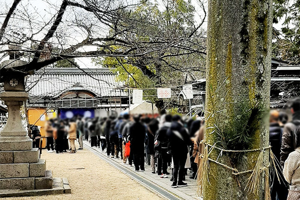
{"type": "MultiPolygon", "coordinates": [[[[84,141],[84,147],[89,149],[90,151],[97,154],[100,158],[106,160],[111,165],[115,166],[119,170],[122,170],[124,173],[126,173],[129,176],[132,176],[135,179],[140,179],[140,183],[143,184],[145,187],[151,189],[149,183],[156,185],[160,189],[162,189],[164,192],[168,192],[170,195],[173,195],[173,197],[165,196],[170,199],[201,199],[200,197],[196,196],[196,181],[194,179],[189,179],[189,170],[188,175],[185,176],[187,186],[186,187],[179,187],[179,188],[172,188],[170,177],[171,175],[168,175],[168,178],[160,178],[156,173],[151,173],[150,165],[145,165],[145,171],[134,171],[134,167],[129,166],[127,163],[124,164],[121,159],[116,158],[108,158],[105,151],[102,151],[100,148],[96,147],[90,147],[90,144],[87,141],[84,141]],[[132,174],[132,175],[130,175],[132,174]],[[136,176],[137,175],[137,176],[136,176]],[[140,178],[138,178],[140,177],[140,178]],[[144,180],[144,181],[143,181],[144,180]]],[[[171,170],[168,170],[168,172],[171,172],[171,170]]],[[[151,189],[156,190],[156,189],[151,189]]],[[[161,191],[161,190],[159,190],[161,191]]],[[[159,193],[159,191],[156,190],[156,192],[159,193]]]]}

